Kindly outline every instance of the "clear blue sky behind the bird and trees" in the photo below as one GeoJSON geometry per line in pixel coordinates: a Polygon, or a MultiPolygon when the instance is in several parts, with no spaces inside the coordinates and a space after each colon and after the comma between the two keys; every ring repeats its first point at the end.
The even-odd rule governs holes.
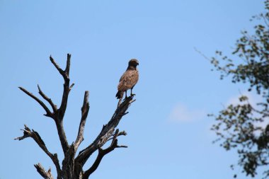
{"type": "Polygon", "coordinates": [[[55,175],[33,139],[13,140],[26,124],[62,161],[54,122],[18,86],[38,95],[39,83],[59,105],[63,80],[49,56],[64,67],[67,53],[75,83],[64,119],[69,144],[77,134],[84,91],[90,91],[79,149],[108,122],[118,103],[118,80],[129,59],[139,59],[137,101],[119,125],[128,134],[119,144],[129,147],[105,156],[93,179],[227,179],[240,173],[229,168],[236,154],[212,144],[214,120],[207,114],[222,110],[246,88],[220,81],[194,49],[208,57],[215,50],[229,54],[240,31],[253,27],[251,16],[261,11],[258,0],[0,0],[0,178],[41,178],[33,166],[38,162],[52,166],[55,175]]]}

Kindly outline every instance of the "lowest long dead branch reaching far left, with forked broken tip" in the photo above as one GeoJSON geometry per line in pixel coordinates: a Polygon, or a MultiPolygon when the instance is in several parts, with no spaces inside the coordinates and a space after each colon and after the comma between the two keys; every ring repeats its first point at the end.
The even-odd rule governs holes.
{"type": "Polygon", "coordinates": [[[59,160],[58,160],[57,154],[52,154],[50,153],[50,151],[48,151],[47,146],[43,142],[38,132],[35,132],[33,129],[30,130],[30,128],[27,127],[26,125],[24,125],[24,129],[22,130],[23,130],[23,136],[17,137],[15,140],[23,140],[28,137],[34,139],[35,142],[38,144],[38,146],[40,146],[40,148],[43,151],[45,151],[47,156],[49,156],[52,159],[52,162],[55,164],[55,167],[57,169],[57,175],[58,175],[57,178],[60,178],[62,176],[62,170],[61,170],[61,167],[59,166],[59,160]]]}

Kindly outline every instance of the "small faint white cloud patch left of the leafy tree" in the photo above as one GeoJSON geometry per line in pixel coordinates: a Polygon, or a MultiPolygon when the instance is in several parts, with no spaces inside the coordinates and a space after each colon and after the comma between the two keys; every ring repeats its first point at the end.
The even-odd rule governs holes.
{"type": "Polygon", "coordinates": [[[169,120],[174,122],[193,122],[206,116],[204,110],[191,110],[185,105],[178,103],[169,115],[169,120]]]}

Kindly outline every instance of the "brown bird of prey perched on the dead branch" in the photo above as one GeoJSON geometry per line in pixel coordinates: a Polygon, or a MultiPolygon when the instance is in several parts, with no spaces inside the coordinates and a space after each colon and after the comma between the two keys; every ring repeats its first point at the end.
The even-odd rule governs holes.
{"type": "Polygon", "coordinates": [[[122,74],[122,77],[120,77],[120,83],[118,84],[118,93],[116,94],[116,97],[118,99],[122,99],[123,93],[125,93],[125,98],[127,98],[128,89],[131,89],[131,96],[135,96],[135,94],[132,93],[132,88],[134,88],[139,78],[137,65],[139,65],[137,59],[130,59],[127,70],[124,74],[122,74]]]}

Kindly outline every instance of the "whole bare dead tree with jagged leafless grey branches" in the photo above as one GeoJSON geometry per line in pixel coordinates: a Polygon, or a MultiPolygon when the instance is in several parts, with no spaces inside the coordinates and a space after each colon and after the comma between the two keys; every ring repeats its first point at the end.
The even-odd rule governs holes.
{"type": "MultiPolygon", "coordinates": [[[[44,98],[44,100],[47,101],[47,103],[50,104],[50,108],[45,105],[45,103],[40,100],[40,98],[33,95],[33,93],[30,93],[29,91],[25,90],[25,88],[19,87],[21,91],[26,93],[28,96],[36,100],[42,108],[45,110],[45,116],[52,118],[52,120],[55,121],[55,125],[57,127],[57,132],[59,136],[59,141],[62,145],[62,151],[64,152],[64,159],[62,161],[62,166],[59,163],[59,158],[57,157],[57,154],[52,154],[45,145],[45,142],[43,142],[42,138],[33,129],[30,129],[26,125],[24,125],[23,130],[23,136],[17,137],[16,139],[22,140],[25,138],[32,138],[38,146],[52,159],[52,162],[55,164],[55,168],[57,171],[57,179],[87,179],[94,171],[96,171],[96,168],[98,168],[99,164],[101,163],[101,160],[103,156],[110,153],[110,151],[113,151],[115,148],[120,147],[127,147],[127,146],[119,146],[118,145],[118,137],[121,135],[126,135],[125,131],[119,132],[119,129],[116,129],[118,126],[120,120],[122,119],[123,115],[126,115],[127,109],[129,108],[130,104],[134,102],[133,97],[130,96],[126,98],[119,106],[116,108],[113,116],[109,120],[108,124],[103,125],[103,128],[101,129],[101,132],[98,134],[96,139],[89,144],[85,149],[82,149],[79,151],[79,154],[76,155],[76,151],[79,148],[79,145],[84,140],[84,126],[86,123],[86,118],[88,115],[88,110],[90,108],[90,105],[88,103],[88,91],[85,91],[84,94],[84,102],[81,108],[81,120],[79,125],[79,131],[76,137],[76,141],[72,142],[71,144],[68,143],[67,137],[64,132],[64,113],[67,109],[67,101],[69,92],[71,91],[71,88],[74,86],[74,83],[69,85],[70,79],[69,79],[69,69],[70,69],[70,58],[71,54],[67,54],[67,67],[63,70],[59,67],[59,65],[55,62],[55,60],[50,57],[50,62],[55,66],[57,71],[59,71],[59,74],[62,75],[64,78],[64,91],[62,93],[62,102],[59,108],[57,108],[57,105],[52,102],[52,100],[43,93],[40,86],[38,86],[38,93],[40,93],[40,96],[44,98]],[[111,141],[110,146],[106,149],[102,149],[102,146],[108,142],[111,141]],[[96,161],[93,162],[92,166],[90,168],[84,169],[84,164],[88,160],[88,158],[91,157],[91,155],[94,152],[98,152],[98,156],[96,157],[96,161]]],[[[52,179],[52,173],[51,169],[48,171],[45,170],[45,168],[42,167],[40,163],[34,165],[37,169],[38,173],[42,175],[43,178],[46,179],[52,179]]]]}

